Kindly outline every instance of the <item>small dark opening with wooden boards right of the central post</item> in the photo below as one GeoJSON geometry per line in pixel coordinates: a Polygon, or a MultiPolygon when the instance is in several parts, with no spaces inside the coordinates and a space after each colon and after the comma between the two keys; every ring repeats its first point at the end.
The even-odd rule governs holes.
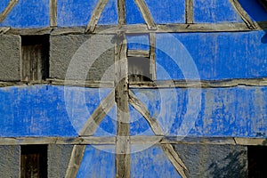
{"type": "Polygon", "coordinates": [[[150,59],[143,57],[128,57],[129,82],[151,81],[150,59]]]}

